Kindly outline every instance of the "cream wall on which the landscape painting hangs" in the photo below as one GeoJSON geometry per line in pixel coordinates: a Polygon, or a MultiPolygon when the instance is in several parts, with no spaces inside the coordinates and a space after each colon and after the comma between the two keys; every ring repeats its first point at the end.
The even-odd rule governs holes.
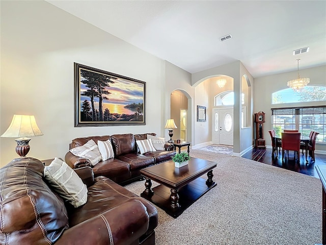
{"type": "MultiPolygon", "coordinates": [[[[164,61],[47,2],[1,1],[0,134],[13,114],[35,115],[44,135],[28,156],[64,158],[76,137],[162,133],[164,75],[164,61]],[[74,128],[74,62],[145,81],[146,125],[74,128]]],[[[1,166],[18,157],[15,146],[1,138],[1,166]]]]}

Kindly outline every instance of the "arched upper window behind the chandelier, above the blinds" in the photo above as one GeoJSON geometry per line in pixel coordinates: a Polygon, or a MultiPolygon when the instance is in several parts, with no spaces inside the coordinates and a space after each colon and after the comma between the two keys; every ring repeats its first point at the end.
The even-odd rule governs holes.
{"type": "Polygon", "coordinates": [[[271,94],[271,104],[326,101],[326,86],[306,86],[301,92],[291,88],[282,89],[271,94]]]}

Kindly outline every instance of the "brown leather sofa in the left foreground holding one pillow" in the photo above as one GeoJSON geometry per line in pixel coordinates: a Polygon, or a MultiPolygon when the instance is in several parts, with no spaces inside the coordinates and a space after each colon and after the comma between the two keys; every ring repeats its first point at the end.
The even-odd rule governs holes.
{"type": "Polygon", "coordinates": [[[17,158],[0,169],[0,244],[155,244],[157,210],[90,167],[76,169],[87,203],[73,208],[44,181],[41,161],[17,158]]]}

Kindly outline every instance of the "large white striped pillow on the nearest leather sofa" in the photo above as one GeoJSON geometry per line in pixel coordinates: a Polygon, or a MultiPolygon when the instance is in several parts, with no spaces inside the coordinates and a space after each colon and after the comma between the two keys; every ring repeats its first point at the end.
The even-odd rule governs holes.
{"type": "Polygon", "coordinates": [[[55,158],[44,167],[44,177],[58,194],[75,208],[87,202],[87,187],[67,163],[55,158]]]}

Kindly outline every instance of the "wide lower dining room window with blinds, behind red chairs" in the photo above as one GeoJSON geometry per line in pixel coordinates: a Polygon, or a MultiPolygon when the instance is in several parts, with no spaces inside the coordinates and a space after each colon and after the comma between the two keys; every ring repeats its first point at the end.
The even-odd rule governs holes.
{"type": "Polygon", "coordinates": [[[271,109],[272,124],[280,135],[284,129],[296,129],[303,136],[317,131],[316,143],[326,143],[326,106],[271,109]]]}

